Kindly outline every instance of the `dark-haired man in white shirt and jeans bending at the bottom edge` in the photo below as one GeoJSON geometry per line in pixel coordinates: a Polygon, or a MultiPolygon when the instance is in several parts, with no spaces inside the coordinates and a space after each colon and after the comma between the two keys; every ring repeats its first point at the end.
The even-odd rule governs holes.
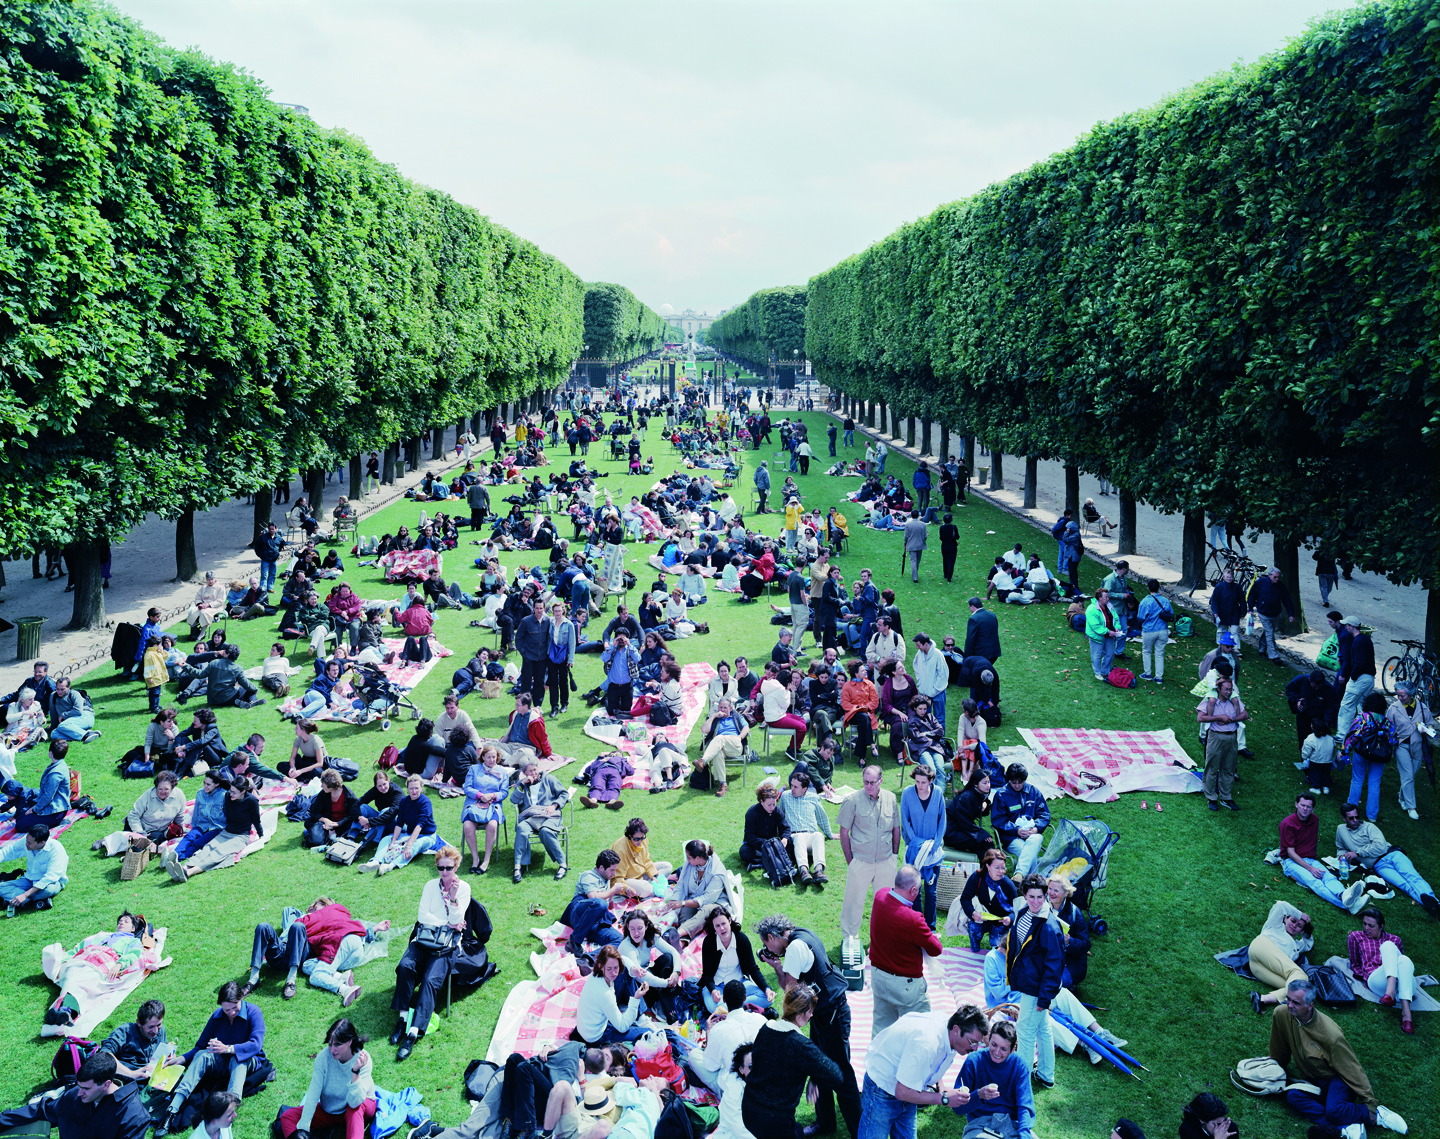
{"type": "Polygon", "coordinates": [[[975,1005],[955,1012],[907,1012],[870,1041],[865,1084],[860,1094],[860,1133],[855,1139],[914,1135],[922,1103],[959,1109],[971,1102],[966,1089],[930,1091],[956,1055],[965,1057],[985,1035],[985,1014],[975,1005]]]}

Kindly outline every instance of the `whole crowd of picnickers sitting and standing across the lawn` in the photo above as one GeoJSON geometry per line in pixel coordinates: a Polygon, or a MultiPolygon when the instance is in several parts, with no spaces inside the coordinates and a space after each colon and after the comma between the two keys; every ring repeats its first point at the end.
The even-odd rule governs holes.
{"type": "MultiPolygon", "coordinates": [[[[691,769],[691,786],[723,798],[736,767],[753,762],[759,739],[785,747],[789,772],[755,788],[739,860],[772,884],[791,881],[816,891],[829,884],[837,860],[844,860],[842,943],[858,942],[865,932],[870,943],[874,1017],[864,1080],[857,1080],[850,1058],[850,983],[824,937],[785,913],[762,919],[747,933],[729,896],[734,887],[724,865],[730,852],[697,837],[684,844],[675,865],[657,860],[649,827],[636,814],[616,827],[615,841],[598,851],[593,865],[575,875],[560,916],[569,930],[566,947],[586,976],[575,1038],[547,1054],[510,1057],[500,1077],[503,1117],[513,1135],[531,1139],[534,1133],[600,1139],[615,1129],[648,1139],[675,1100],[674,1080],[636,1071],[636,1041],[658,1035],[688,1081],[719,1099],[723,1139],[795,1135],[802,1099],[815,1109],[806,1135],[834,1132],[837,1117],[858,1139],[913,1135],[917,1112],[935,1107],[953,1112],[968,1138],[1030,1139],[1037,1133],[1032,1089],[1056,1084],[1056,1047],[1100,1063],[1104,1048],[1123,1048],[1126,1041],[1100,1025],[1076,995],[1086,982],[1094,940],[1086,911],[1071,899],[1070,878],[1038,873],[1051,825],[1044,795],[1022,763],[998,763],[988,743],[988,733],[1001,724],[1002,648],[999,622],[986,602],[992,596],[1017,605],[1061,596],[1089,602],[1079,629],[1090,642],[1096,677],[1107,678],[1115,657],[1123,659],[1126,642],[1138,636],[1140,678],[1159,684],[1175,613],[1158,583],[1145,583],[1136,596],[1122,562],[1093,599],[1080,595],[1079,539],[1071,534],[1077,527],[1061,518],[1057,573],[1045,569],[1040,553],[1027,554],[1017,543],[995,557],[984,596],[969,598],[963,639],[945,635],[936,644],[913,619],[907,638],[896,590],[871,569],[860,569],[847,587],[837,560],[847,534],[840,510],[806,508],[791,477],[776,500],[783,507],[779,533],[769,533],[775,527],[763,520],[746,524],[727,494],[739,468],[736,451],[749,444],[759,448],[776,431],[789,454],[788,474],[806,475],[816,455],[805,422],[772,422],[768,409],[749,413],[739,399],[716,413],[696,393],[674,403],[645,406],[622,396],[608,408],[572,405],[569,410],[563,423],[559,408],[521,416],[513,436],[497,423],[490,436],[492,462],[465,436],[456,456],[464,469],[451,480],[426,477],[413,492],[415,503],[426,505],[465,500],[481,547],[471,587],[456,575],[446,582],[436,566],[406,582],[399,599],[361,599],[343,579],[338,554],[318,556],[318,520],[300,500],[291,521],[305,539],[292,552],[275,603],[269,598],[276,566],[289,543],[272,526],[256,541],[258,577],[226,589],[206,576],[186,613],[194,652],[180,651],[153,609],[134,658],[124,662],[125,680],[144,683],[153,713],[143,744],[125,760],[127,772],[145,776],[147,788],[120,828],[96,839],[92,851],[158,854],[177,883],[233,865],[265,837],[261,802],[269,783],[284,789],[275,801],[288,801],[287,814],[301,825],[304,845],[343,852],[359,871],[383,875],[426,855],[435,877],[419,888],[390,1001],[389,1043],[403,1061],[429,1047],[436,1001],[448,983],[482,983],[498,971],[487,952],[490,919],[471,883],[490,873],[501,829],[513,827],[516,886],[541,857],[553,878],[563,880],[570,873],[575,805],[625,806],[635,763],[624,752],[585,765],[569,786],[544,770],[553,756],[547,720],[569,714],[577,655],[599,655],[602,671],[585,704],[603,707],[621,723],[671,727],[687,711],[687,694],[670,647],[703,632],[697,608],[724,593],[736,603],[753,603],[772,587],[786,595],[786,603],[770,606],[776,639],[768,657],[759,667],[746,657],[717,662],[701,694],[698,746],[677,746],[665,736],[647,744],[655,756],[649,791],[680,789],[691,769]],[[616,504],[598,488],[602,474],[588,467],[590,444],[611,441],[608,459],[625,461],[629,472],[647,464],[652,468],[654,459],[642,458],[642,449],[647,429],[661,432],[660,420],[684,465],[657,478],[645,495],[616,504]],[[514,446],[507,449],[511,438],[514,446]],[[552,464],[560,446],[569,446],[573,456],[564,474],[544,478],[524,469],[552,464]],[[503,500],[510,510],[492,514],[491,492],[507,485],[514,488],[503,500]],[[573,527],[564,537],[554,524],[562,513],[573,527]],[[658,576],[638,590],[634,613],[621,603],[600,629],[609,598],[639,585],[626,582],[625,543],[636,550],[652,546],[654,557],[632,569],[641,575],[654,569],[658,576]],[[543,550],[544,557],[510,573],[501,569],[501,554],[521,550],[543,550]],[[333,583],[324,598],[315,587],[321,580],[333,583]],[[387,726],[393,700],[374,681],[390,662],[384,641],[403,641],[399,655],[425,662],[435,613],[451,608],[482,611],[471,625],[492,632],[495,645],[461,654],[465,659],[452,672],[444,711],[418,719],[408,740],[386,749],[392,755],[367,775],[370,786],[357,795],[348,783],[359,770],[331,755],[324,724],[383,719],[387,726]],[[228,622],[268,618],[276,619],[278,636],[252,680],[240,670],[239,648],[226,641],[228,622]],[[298,670],[287,641],[308,649],[298,670]],[[161,700],[167,685],[176,687],[173,706],[161,700]],[[949,736],[952,687],[969,693],[959,701],[949,736]],[[275,767],[262,760],[262,733],[230,749],[215,714],[215,708],[258,707],[266,700],[262,690],[276,700],[292,693],[298,698],[281,744],[282,755],[288,744],[288,759],[275,767]],[[505,694],[513,697],[505,730],[500,739],[487,739],[462,703],[505,694]],[[204,704],[181,727],[177,706],[189,700],[204,704]],[[848,760],[857,760],[861,786],[840,795],[837,767],[848,760]],[[894,763],[907,773],[900,793],[884,786],[894,763]],[[192,778],[199,788],[186,821],[179,788],[192,778]],[[458,847],[441,839],[432,796],[462,799],[458,847]],[[834,818],[827,803],[838,805],[834,818]],[[837,839],[838,855],[829,845],[837,839]],[[978,863],[952,917],[968,935],[969,949],[984,956],[986,1008],[930,1008],[924,962],[942,952],[948,914],[939,910],[937,881],[946,851],[978,863]],[[664,897],[658,909],[651,901],[657,896],[664,897]],[[681,962],[697,939],[701,969],[690,979],[681,962]],[[703,1028],[698,1038],[680,1031],[691,1019],[703,1028]],[[950,1087],[940,1086],[956,1058],[959,1077],[950,1087]]],[[[854,446],[854,420],[844,420],[842,446],[854,446]]],[[[829,456],[837,456],[838,433],[835,425],[827,432],[829,456]]],[[[953,511],[965,505],[965,467],[946,462],[932,472],[922,464],[907,488],[886,474],[886,458],[883,442],[867,446],[864,482],[851,500],[867,504],[871,526],[904,530],[912,582],[919,580],[926,527],[939,524],[949,582],[958,550],[953,511]],[[939,504],[932,503],[935,490],[939,504]]],[[[756,467],[755,490],[756,514],[776,513],[768,503],[768,462],[756,467]]],[[[333,517],[338,524],[353,517],[353,508],[341,501],[333,517]]],[[[399,527],[373,553],[455,550],[465,523],[458,513],[422,513],[415,537],[399,527]]],[[[363,544],[359,536],[357,543],[363,544]]],[[[1256,605],[1263,612],[1276,599],[1282,599],[1279,592],[1263,592],[1256,605]]],[[[714,606],[701,612],[720,616],[714,606]]],[[[1289,878],[1358,916],[1361,927],[1346,945],[1352,973],[1384,1005],[1395,1007],[1401,1030],[1411,1032],[1414,962],[1369,903],[1398,888],[1431,914],[1440,916],[1440,907],[1413,863],[1374,822],[1378,775],[1371,783],[1368,772],[1384,760],[1372,759],[1362,744],[1372,736],[1392,739],[1407,756],[1414,746],[1407,808],[1414,816],[1414,767],[1431,721],[1413,690],[1390,704],[1372,693],[1372,649],[1367,687],[1364,634],[1335,618],[1339,629],[1349,631],[1342,641],[1342,691],[1326,687],[1323,675],[1297,678],[1293,694],[1287,690],[1316,792],[1302,793],[1295,814],[1279,824],[1280,861],[1289,878]],[[1356,782],[1335,847],[1345,877],[1355,871],[1351,884],[1318,860],[1316,839],[1316,793],[1329,786],[1323,769],[1342,756],[1354,760],[1356,782]],[[1362,812],[1369,821],[1361,819],[1362,812]]],[[[1247,752],[1231,625],[1238,621],[1220,626],[1217,651],[1201,665],[1210,694],[1197,719],[1205,733],[1204,786],[1211,809],[1238,809],[1236,765],[1247,752]]],[[[66,755],[72,746],[92,743],[99,731],[84,693],[72,691],[68,680],[49,683],[43,662],[4,703],[7,742],[0,769],[17,838],[0,850],[0,860],[24,860],[19,877],[0,881],[0,897],[13,916],[27,906],[53,904],[68,881],[68,855],[50,834],[73,805],[66,755]],[[14,757],[27,740],[33,747],[46,734],[48,763],[36,788],[24,788],[16,779],[14,757]]],[[[166,1048],[164,1007],[145,1001],[134,1024],[117,1030],[79,1066],[69,1090],[4,1113],[0,1127],[45,1119],[62,1136],[138,1139],[153,1126],[157,1136],[193,1130],[199,1139],[206,1130],[210,1139],[228,1139],[242,1097],[275,1076],[264,1051],[264,1015],[251,999],[264,971],[284,978],[281,999],[295,999],[304,976],[350,1009],[363,989],[357,971],[383,952],[390,932],[389,920],[354,917],[328,896],[304,910],[285,907],[278,923],[256,924],[248,981],[220,986],[217,1008],[189,1053],[166,1048]],[[183,1066],[183,1074],[173,1091],[145,1102],[141,1083],[164,1064],[183,1066]]],[[[1319,1089],[1287,1091],[1287,1103],[1302,1117],[1338,1132],[1355,1123],[1403,1130],[1403,1120],[1375,1099],[1344,1034],[1313,1008],[1313,985],[1297,965],[1312,947],[1309,935],[1308,914],[1276,903],[1248,955],[1250,969],[1266,986],[1251,994],[1251,1002],[1256,1011],[1274,1008],[1272,1057],[1319,1089]]],[[[341,1015],[323,1038],[317,1030],[315,1043],[324,1047],[315,1054],[304,1103],[284,1112],[276,1126],[284,1136],[304,1139],[330,1127],[359,1135],[373,1123],[383,1096],[369,1040],[341,1015]]],[[[429,1123],[415,1133],[474,1139],[472,1123],[475,1116],[451,1129],[429,1123]]],[[[1142,1136],[1130,1120],[1119,1120],[1113,1133],[1142,1136]]],[[[1187,1106],[1181,1135],[1234,1133],[1217,1097],[1200,1096],[1187,1106]]]]}

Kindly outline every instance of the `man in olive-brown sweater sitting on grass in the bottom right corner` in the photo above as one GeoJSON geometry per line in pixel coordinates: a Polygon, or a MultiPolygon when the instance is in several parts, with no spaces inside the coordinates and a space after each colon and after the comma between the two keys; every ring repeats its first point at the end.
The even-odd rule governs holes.
{"type": "Polygon", "coordinates": [[[1269,1053],[1287,1080],[1303,1081],[1286,1089],[1286,1106],[1320,1133],[1362,1136],[1375,1123],[1405,1133],[1405,1120],[1377,1099],[1339,1025],[1315,1007],[1309,979],[1286,986],[1284,1004],[1270,1017],[1269,1053]]]}

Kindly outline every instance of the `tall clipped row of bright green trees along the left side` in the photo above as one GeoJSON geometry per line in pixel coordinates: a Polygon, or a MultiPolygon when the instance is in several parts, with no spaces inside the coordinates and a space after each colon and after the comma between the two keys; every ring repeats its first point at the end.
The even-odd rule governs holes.
{"type": "Polygon", "coordinates": [[[0,52],[0,550],[65,549],[73,626],[147,513],[189,576],[194,511],[261,524],[347,461],[357,492],[363,451],[393,477],[580,354],[563,264],[239,69],[92,0],[4,6],[0,52]]]}

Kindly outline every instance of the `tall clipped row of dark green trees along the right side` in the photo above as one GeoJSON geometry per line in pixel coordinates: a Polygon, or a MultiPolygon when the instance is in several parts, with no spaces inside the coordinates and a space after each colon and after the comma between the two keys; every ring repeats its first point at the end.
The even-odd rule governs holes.
{"type": "MultiPolygon", "coordinates": [[[[809,282],[805,350],[919,416],[1430,589],[1440,634],[1440,19],[1391,0],[942,206],[809,282]]],[[[912,420],[913,422],[913,420],[912,420]]],[[[913,426],[912,426],[913,431],[913,426]]],[[[943,444],[942,444],[943,446],[943,444]]],[[[1032,504],[1032,501],[1031,501],[1032,504]]]]}

